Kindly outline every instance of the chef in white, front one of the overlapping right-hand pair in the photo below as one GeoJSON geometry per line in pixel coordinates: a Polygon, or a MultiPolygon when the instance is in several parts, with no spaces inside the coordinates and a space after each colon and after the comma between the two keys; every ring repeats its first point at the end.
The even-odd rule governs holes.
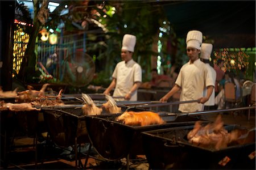
{"type": "Polygon", "coordinates": [[[167,101],[181,88],[180,101],[200,100],[199,103],[186,103],[179,105],[180,112],[203,111],[204,103],[212,95],[214,82],[205,63],[200,61],[199,54],[203,41],[203,33],[189,31],[187,34],[187,56],[189,61],[180,69],[174,87],[164,95],[160,101],[167,101]],[[203,97],[204,88],[207,87],[207,96],[203,97]]]}

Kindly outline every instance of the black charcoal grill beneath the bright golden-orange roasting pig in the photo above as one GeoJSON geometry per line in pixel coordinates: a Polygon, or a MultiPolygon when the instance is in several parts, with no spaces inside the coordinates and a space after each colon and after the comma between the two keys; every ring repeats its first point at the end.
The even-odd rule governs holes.
{"type": "MultiPolygon", "coordinates": [[[[132,108],[130,111],[145,110],[132,108]]],[[[129,126],[115,121],[119,115],[121,114],[85,117],[89,139],[98,154],[106,160],[118,160],[125,158],[128,154],[131,155],[131,157],[132,155],[143,155],[144,151],[140,135],[141,131],[192,125],[195,124],[196,121],[200,120],[197,117],[182,116],[177,117],[175,121],[168,121],[170,120],[170,116],[168,116],[168,114],[163,114],[162,116],[160,114],[163,120],[167,121],[167,124],[129,126]]]]}

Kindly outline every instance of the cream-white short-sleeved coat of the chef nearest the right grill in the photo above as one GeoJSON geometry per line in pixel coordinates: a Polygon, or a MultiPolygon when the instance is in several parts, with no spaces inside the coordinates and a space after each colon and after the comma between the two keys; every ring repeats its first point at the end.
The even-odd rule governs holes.
{"type": "MultiPolygon", "coordinates": [[[[190,64],[185,63],[180,69],[175,84],[181,87],[180,101],[197,100],[203,97],[204,88],[214,86],[214,81],[208,74],[207,66],[197,59],[190,64]]],[[[203,111],[204,105],[201,103],[185,103],[179,105],[180,112],[203,111]]]]}

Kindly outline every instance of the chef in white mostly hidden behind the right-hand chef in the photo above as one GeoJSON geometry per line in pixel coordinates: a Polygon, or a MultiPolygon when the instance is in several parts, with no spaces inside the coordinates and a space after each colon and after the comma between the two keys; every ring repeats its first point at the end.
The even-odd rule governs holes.
{"type": "MultiPolygon", "coordinates": [[[[216,81],[216,71],[213,69],[212,66],[210,66],[210,54],[212,53],[212,44],[209,43],[203,43],[201,45],[201,54],[200,59],[207,65],[207,69],[209,73],[212,75],[212,79],[215,82],[216,81]]],[[[204,96],[207,95],[207,88],[204,89],[204,96]]],[[[214,98],[215,98],[215,91],[213,90],[212,95],[210,95],[210,98],[207,102],[204,103],[204,110],[210,110],[210,107],[213,107],[214,104],[214,98]]]]}

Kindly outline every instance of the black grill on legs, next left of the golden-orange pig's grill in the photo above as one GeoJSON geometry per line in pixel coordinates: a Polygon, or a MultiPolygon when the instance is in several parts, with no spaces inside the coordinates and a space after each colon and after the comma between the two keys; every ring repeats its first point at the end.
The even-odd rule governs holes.
{"type": "MultiPolygon", "coordinates": [[[[82,167],[81,160],[78,158],[77,145],[90,143],[86,130],[86,116],[82,113],[81,107],[82,105],[40,107],[42,108],[44,121],[46,122],[49,137],[52,141],[60,147],[74,146],[76,167],[77,161],[79,161],[79,165],[82,167]]],[[[122,111],[125,111],[125,109],[126,107],[122,107],[122,111]]],[[[104,111],[101,116],[107,118],[108,116],[113,116],[113,114],[108,114],[104,111]]],[[[90,148],[91,146],[88,152],[90,152],[90,148]]],[[[87,156],[89,157],[89,155],[87,156]]]]}

